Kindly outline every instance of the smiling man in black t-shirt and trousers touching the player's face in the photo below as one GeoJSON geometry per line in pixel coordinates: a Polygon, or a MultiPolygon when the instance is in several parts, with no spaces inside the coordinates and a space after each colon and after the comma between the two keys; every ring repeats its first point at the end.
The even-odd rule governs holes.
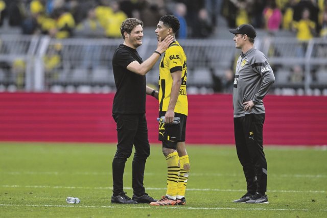
{"type": "Polygon", "coordinates": [[[146,94],[158,99],[158,91],[146,85],[147,72],[173,42],[173,37],[158,40],[157,49],[143,62],[136,48],[142,45],[143,22],[135,18],[123,21],[121,33],[124,43],[116,49],[112,67],[116,93],[112,116],[117,125],[118,144],[112,161],[113,195],[111,203],[136,204],[156,201],[143,186],[145,163],[150,155],[147,120],[145,116],[146,94]],[[123,190],[125,162],[135,147],[132,162],[133,197],[123,190]]]}

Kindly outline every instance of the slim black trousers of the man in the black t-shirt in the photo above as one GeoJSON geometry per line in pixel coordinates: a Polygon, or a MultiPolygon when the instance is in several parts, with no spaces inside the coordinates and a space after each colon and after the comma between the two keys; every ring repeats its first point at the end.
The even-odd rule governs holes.
{"type": "Polygon", "coordinates": [[[145,114],[112,114],[116,125],[118,144],[112,161],[113,196],[123,191],[123,176],[127,158],[132,154],[132,187],[136,196],[145,193],[143,186],[144,169],[150,155],[148,127],[145,114]]]}

